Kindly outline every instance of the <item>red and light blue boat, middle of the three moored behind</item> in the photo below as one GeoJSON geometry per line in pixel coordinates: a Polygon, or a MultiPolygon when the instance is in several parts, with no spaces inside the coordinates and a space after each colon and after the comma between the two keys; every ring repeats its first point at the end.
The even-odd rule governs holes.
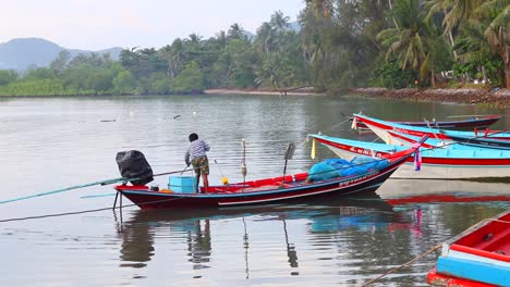
{"type": "Polygon", "coordinates": [[[424,135],[428,135],[429,138],[437,138],[445,141],[452,141],[450,136],[465,136],[470,138],[484,136],[490,139],[498,139],[498,140],[509,140],[510,141],[510,133],[503,130],[489,130],[486,129],[483,133],[477,132],[462,132],[462,130],[445,130],[430,127],[418,127],[418,126],[410,126],[410,125],[402,125],[397,124],[393,122],[377,120],[374,117],[366,116],[364,114],[354,114],[353,115],[355,123],[353,127],[355,127],[359,123],[365,124],[372,132],[374,132],[379,138],[381,138],[385,142],[388,144],[388,130],[398,132],[401,134],[406,134],[411,136],[423,137],[424,135]]]}

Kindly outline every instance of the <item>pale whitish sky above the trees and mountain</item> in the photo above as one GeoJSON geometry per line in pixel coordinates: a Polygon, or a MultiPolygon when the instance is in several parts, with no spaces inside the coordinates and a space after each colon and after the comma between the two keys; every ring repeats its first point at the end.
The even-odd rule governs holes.
{"type": "Polygon", "coordinates": [[[0,42],[35,37],[68,49],[158,49],[234,23],[255,34],[275,11],[294,22],[304,8],[304,0],[3,0],[0,42]]]}

